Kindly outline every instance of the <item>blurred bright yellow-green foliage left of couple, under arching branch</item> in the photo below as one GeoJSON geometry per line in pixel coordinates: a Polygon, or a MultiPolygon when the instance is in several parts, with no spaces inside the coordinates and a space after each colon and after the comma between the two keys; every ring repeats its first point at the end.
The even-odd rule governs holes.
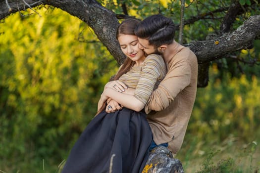
{"type": "Polygon", "coordinates": [[[86,24],[52,7],[39,12],[14,14],[0,26],[0,168],[8,172],[25,172],[15,167],[24,155],[27,164],[52,158],[58,165],[117,69],[86,24]]]}

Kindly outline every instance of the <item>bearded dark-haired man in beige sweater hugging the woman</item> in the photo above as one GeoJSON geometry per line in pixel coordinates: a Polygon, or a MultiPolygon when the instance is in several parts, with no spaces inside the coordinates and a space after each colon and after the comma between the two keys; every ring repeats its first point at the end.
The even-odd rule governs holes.
{"type": "Polygon", "coordinates": [[[147,54],[159,53],[167,74],[153,91],[145,111],[156,145],[168,144],[176,154],[183,143],[197,91],[198,62],[188,48],[174,41],[170,18],[152,15],[136,28],[139,46],[147,54]]]}

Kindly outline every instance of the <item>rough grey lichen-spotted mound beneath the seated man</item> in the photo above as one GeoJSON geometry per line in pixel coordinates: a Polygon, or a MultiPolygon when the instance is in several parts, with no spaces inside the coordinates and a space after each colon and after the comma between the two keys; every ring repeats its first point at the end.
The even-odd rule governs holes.
{"type": "Polygon", "coordinates": [[[159,146],[151,151],[142,173],[184,173],[184,170],[168,148],[159,146]]]}

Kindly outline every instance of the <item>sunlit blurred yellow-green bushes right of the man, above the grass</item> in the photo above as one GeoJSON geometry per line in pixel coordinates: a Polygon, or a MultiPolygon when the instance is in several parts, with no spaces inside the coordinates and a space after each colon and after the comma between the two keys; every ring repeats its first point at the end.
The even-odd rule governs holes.
{"type": "Polygon", "coordinates": [[[260,82],[256,76],[248,80],[226,76],[220,81],[216,64],[210,68],[210,82],[198,88],[197,98],[189,125],[189,132],[208,140],[222,141],[230,133],[253,140],[260,122],[260,82]],[[203,115],[203,116],[202,116],[203,115]],[[236,130],[234,130],[236,129],[236,130]],[[249,135],[250,134],[250,135],[249,135]]]}

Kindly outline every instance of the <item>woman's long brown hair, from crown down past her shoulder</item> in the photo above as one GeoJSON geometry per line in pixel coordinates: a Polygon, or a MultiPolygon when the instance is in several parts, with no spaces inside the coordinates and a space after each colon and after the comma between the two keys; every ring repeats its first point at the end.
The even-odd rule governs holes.
{"type": "MultiPolygon", "coordinates": [[[[140,20],[138,20],[136,18],[129,18],[129,19],[125,19],[124,21],[122,21],[119,24],[119,26],[117,27],[116,39],[118,40],[118,37],[121,34],[135,36],[135,28],[138,26],[139,23],[140,23],[140,20]]],[[[134,61],[132,61],[130,58],[126,57],[124,63],[122,64],[122,66],[120,67],[120,69],[118,70],[116,75],[114,76],[113,81],[118,80],[123,74],[128,72],[133,67],[134,64],[135,64],[134,61]]],[[[98,110],[96,115],[101,113],[105,109],[105,107],[106,107],[106,104],[104,103],[103,106],[101,107],[101,109],[98,110]]]]}

